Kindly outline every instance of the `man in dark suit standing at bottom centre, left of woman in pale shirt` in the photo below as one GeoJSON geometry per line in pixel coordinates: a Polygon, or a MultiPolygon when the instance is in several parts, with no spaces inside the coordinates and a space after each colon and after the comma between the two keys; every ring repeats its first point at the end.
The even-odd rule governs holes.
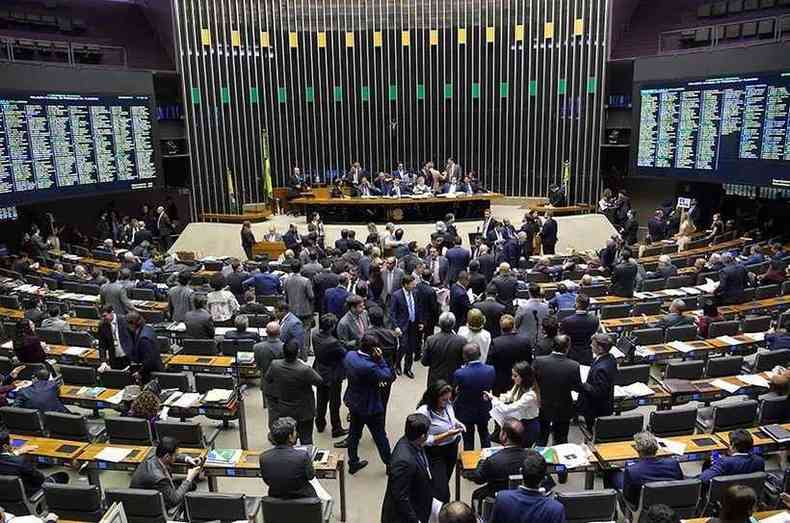
{"type": "Polygon", "coordinates": [[[381,523],[425,523],[431,515],[433,486],[425,442],[431,421],[423,414],[406,418],[404,436],[392,452],[381,523]]]}

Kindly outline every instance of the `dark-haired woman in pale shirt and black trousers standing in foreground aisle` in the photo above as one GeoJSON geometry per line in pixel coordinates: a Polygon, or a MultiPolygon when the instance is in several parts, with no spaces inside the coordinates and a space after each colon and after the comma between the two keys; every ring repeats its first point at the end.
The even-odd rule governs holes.
{"type": "Polygon", "coordinates": [[[453,388],[444,380],[431,383],[422,395],[417,413],[431,420],[425,453],[431,468],[434,497],[444,503],[450,501],[450,477],[458,460],[458,442],[466,430],[455,417],[450,399],[453,388]]]}

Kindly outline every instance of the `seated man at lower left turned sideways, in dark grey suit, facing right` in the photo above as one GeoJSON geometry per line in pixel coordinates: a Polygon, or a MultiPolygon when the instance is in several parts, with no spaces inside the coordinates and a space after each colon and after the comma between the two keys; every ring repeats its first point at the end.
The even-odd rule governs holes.
{"type": "Polygon", "coordinates": [[[184,503],[187,492],[194,490],[200,465],[200,458],[177,455],[176,440],[165,436],[159,440],[156,452],[137,465],[129,488],[158,490],[162,493],[165,508],[176,509],[184,503]],[[174,463],[186,463],[192,467],[187,470],[186,478],[178,483],[173,480],[171,471],[174,463]]]}

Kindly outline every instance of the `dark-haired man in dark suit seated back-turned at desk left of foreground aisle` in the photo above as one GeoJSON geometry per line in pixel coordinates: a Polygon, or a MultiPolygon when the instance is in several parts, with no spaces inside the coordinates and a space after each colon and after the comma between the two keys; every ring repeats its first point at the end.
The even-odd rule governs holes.
{"type": "Polygon", "coordinates": [[[269,496],[279,499],[316,497],[310,480],[315,477],[313,459],[304,449],[295,449],[296,420],[290,416],[272,423],[269,439],[275,447],[260,457],[261,479],[269,487],[269,496]]]}

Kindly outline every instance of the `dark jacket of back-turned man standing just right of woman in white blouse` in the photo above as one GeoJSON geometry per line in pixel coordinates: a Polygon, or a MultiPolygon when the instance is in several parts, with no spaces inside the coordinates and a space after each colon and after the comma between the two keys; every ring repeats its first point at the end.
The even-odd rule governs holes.
{"type": "Polygon", "coordinates": [[[571,391],[582,388],[579,364],[553,352],[532,363],[540,387],[540,415],[552,421],[567,421],[576,415],[571,391]]]}

